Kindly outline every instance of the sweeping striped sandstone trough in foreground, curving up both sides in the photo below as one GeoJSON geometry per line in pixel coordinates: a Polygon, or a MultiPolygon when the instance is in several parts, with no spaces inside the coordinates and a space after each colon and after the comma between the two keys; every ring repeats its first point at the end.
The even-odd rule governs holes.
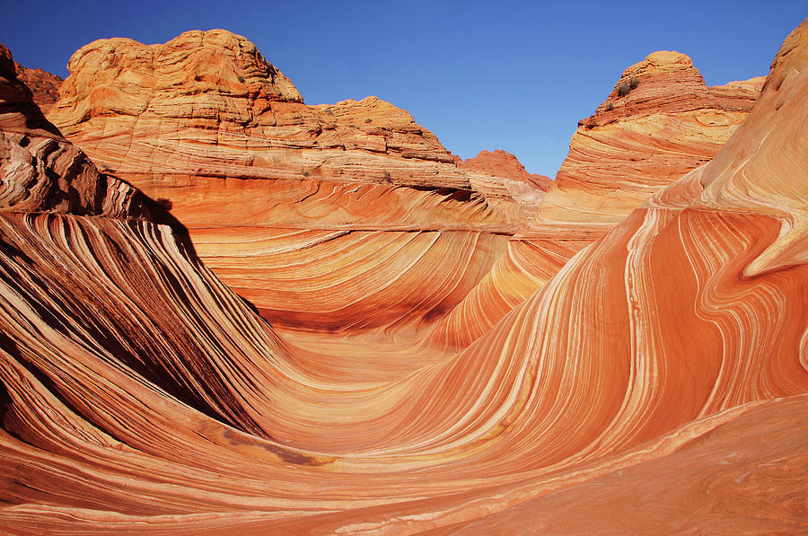
{"type": "Polygon", "coordinates": [[[4,210],[0,529],[805,532],[806,95],[808,22],[715,159],[456,351],[287,337],[170,225],[4,210]]]}

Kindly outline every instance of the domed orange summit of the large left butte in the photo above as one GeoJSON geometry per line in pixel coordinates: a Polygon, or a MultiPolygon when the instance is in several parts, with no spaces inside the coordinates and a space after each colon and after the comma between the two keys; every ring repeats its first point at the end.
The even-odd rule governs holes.
{"type": "Polygon", "coordinates": [[[303,102],[294,84],[254,44],[224,30],[187,31],[162,45],[96,40],[76,51],[67,68],[71,75],[56,111],[64,116],[69,109],[75,122],[149,111],[173,118],[209,112],[245,124],[267,112],[270,102],[303,102]],[[216,108],[231,97],[250,101],[250,108],[216,108]]]}

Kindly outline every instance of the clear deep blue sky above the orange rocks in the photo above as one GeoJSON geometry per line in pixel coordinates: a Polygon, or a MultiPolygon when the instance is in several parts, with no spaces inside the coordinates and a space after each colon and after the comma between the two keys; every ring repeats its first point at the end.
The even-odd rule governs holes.
{"type": "Polygon", "coordinates": [[[692,57],[708,84],[766,75],[808,16],[808,0],[4,4],[0,42],[23,66],[66,76],[92,40],[224,28],[255,42],[309,104],[377,95],[463,158],[505,149],[550,177],[625,67],[667,49],[692,57]]]}

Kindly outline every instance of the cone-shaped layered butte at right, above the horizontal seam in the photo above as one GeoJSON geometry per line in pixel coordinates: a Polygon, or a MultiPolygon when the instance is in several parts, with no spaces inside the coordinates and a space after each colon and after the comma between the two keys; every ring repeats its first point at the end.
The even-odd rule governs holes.
{"type": "Polygon", "coordinates": [[[579,122],[538,224],[604,233],[715,156],[763,81],[707,87],[690,58],[671,51],[629,66],[594,115],[579,122]]]}

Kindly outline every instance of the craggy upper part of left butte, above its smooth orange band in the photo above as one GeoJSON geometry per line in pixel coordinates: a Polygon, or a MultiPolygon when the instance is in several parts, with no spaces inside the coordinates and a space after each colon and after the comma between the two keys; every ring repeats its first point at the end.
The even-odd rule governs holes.
{"type": "MultiPolygon", "coordinates": [[[[468,175],[406,111],[374,97],[305,106],[250,41],[227,31],[190,31],[152,46],[100,40],[76,52],[68,68],[49,118],[94,162],[147,193],[182,178],[292,181],[290,191],[303,179],[335,189],[470,190],[468,175]]],[[[400,218],[339,221],[390,220],[400,218]]]]}

